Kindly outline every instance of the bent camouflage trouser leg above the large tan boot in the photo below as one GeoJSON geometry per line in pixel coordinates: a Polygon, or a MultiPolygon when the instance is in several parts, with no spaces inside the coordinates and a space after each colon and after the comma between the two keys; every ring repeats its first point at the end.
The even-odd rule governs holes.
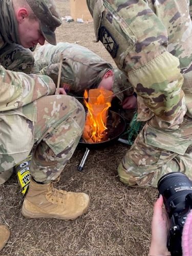
{"type": "MultiPolygon", "coordinates": [[[[29,148],[22,158],[24,160],[31,152],[32,177],[38,182],[49,183],[60,175],[72,157],[82,134],[85,112],[78,100],[67,95],[42,97],[36,100],[36,107],[36,122],[27,120],[33,147],[29,148]]],[[[26,122],[25,118],[23,119],[26,122]]],[[[5,159],[8,157],[4,156],[5,159]]],[[[7,173],[10,176],[10,170],[5,170],[2,174],[7,173]]]]}

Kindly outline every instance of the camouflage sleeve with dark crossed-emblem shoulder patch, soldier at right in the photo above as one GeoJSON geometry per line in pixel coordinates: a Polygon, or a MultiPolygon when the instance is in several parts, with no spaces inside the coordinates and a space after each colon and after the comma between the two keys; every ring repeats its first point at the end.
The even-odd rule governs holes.
{"type": "MultiPolygon", "coordinates": [[[[166,2],[166,1],[165,1],[166,2]]],[[[144,0],[87,0],[97,40],[124,71],[156,118],[174,127],[186,112],[179,59],[168,53],[168,35],[144,0]]]]}

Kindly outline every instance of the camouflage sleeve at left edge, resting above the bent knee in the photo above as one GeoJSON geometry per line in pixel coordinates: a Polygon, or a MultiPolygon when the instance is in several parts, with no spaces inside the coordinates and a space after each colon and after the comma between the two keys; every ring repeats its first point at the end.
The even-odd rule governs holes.
{"type": "Polygon", "coordinates": [[[0,66],[0,111],[20,108],[55,92],[52,79],[44,75],[27,75],[0,66]]]}

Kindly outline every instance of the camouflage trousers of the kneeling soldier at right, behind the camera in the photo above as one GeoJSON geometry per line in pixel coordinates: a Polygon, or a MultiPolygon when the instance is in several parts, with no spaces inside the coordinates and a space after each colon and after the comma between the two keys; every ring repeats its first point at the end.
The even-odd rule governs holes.
{"type": "Polygon", "coordinates": [[[192,180],[192,119],[185,116],[176,131],[154,129],[148,121],[118,166],[120,180],[130,186],[157,186],[167,173],[181,172],[192,180]]]}

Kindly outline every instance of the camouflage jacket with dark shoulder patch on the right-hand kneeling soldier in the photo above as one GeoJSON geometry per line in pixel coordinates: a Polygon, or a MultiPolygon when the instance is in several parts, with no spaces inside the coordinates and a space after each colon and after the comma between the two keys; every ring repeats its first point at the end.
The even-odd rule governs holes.
{"type": "Polygon", "coordinates": [[[138,119],[178,129],[192,117],[189,0],[87,0],[97,40],[138,95],[138,119]]]}

